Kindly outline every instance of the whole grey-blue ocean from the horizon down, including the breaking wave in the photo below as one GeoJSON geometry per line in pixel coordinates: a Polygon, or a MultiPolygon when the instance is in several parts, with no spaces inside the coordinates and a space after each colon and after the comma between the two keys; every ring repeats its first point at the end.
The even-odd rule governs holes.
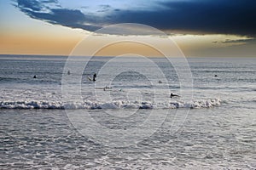
{"type": "Polygon", "coordinates": [[[179,61],[1,55],[1,169],[255,169],[256,60],[179,61]]]}

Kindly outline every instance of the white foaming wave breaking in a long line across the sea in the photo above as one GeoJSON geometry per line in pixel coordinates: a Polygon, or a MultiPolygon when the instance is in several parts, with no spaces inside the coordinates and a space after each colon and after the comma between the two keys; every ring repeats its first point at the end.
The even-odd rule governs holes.
{"type": "Polygon", "coordinates": [[[84,101],[61,102],[61,101],[0,101],[0,109],[56,109],[56,110],[78,110],[78,109],[200,109],[210,108],[221,104],[220,99],[206,99],[201,101],[172,101],[166,103],[152,103],[149,101],[84,101]]]}

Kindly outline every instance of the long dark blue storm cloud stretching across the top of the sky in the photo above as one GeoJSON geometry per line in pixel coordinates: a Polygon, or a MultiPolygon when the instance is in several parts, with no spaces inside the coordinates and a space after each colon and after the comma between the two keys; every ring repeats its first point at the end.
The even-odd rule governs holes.
{"type": "MultiPolygon", "coordinates": [[[[256,37],[256,0],[187,0],[158,3],[155,8],[114,8],[111,4],[99,8],[103,16],[83,14],[80,10],[51,8],[42,13],[44,3],[17,0],[18,7],[32,18],[62,26],[94,31],[101,26],[118,23],[139,23],[160,30],[195,31],[204,33],[236,34],[256,37]],[[84,24],[89,23],[89,24],[84,24]]],[[[42,2],[42,1],[41,1],[42,2]]],[[[55,3],[55,1],[47,0],[55,3]]],[[[106,2],[107,3],[107,2],[106,2]]]]}

